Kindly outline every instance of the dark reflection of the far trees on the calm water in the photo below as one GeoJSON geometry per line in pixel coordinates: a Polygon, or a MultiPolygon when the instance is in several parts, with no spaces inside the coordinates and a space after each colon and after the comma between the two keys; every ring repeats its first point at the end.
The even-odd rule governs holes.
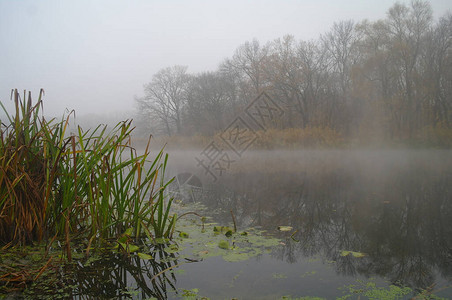
{"type": "MultiPolygon", "coordinates": [[[[381,276],[426,289],[452,275],[452,172],[420,161],[253,171],[225,176],[202,197],[240,227],[290,225],[298,242],[274,253],[295,263],[321,255],[340,275],[381,276]],[[341,256],[342,250],[366,253],[341,256]]],[[[288,234],[290,235],[290,234],[288,234]]]]}

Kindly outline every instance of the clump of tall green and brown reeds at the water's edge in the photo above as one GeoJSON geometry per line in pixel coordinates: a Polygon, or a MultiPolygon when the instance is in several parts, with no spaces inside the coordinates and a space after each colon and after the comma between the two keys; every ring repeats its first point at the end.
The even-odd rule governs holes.
{"type": "Polygon", "coordinates": [[[131,121],[67,132],[72,116],[47,121],[39,93],[12,92],[15,113],[0,130],[0,241],[26,244],[85,235],[89,244],[118,238],[170,238],[176,216],[165,189],[168,155],[131,147],[131,121]]]}

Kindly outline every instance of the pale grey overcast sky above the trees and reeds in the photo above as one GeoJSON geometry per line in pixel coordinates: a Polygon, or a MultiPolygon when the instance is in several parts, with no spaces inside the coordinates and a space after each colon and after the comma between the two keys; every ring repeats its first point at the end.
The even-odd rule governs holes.
{"type": "MultiPolygon", "coordinates": [[[[42,87],[46,114],[133,111],[161,68],[215,70],[245,41],[317,39],[333,22],[383,19],[394,2],[0,0],[0,100],[42,87]]],[[[435,19],[452,10],[451,0],[430,3],[435,19]]]]}

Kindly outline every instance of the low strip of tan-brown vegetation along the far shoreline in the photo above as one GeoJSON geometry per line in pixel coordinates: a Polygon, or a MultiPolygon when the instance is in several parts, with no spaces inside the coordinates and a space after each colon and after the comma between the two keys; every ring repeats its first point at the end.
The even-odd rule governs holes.
{"type": "MultiPolygon", "coordinates": [[[[165,147],[167,150],[203,149],[212,141],[221,144],[221,132],[214,135],[173,135],[152,137],[153,149],[165,147]]],[[[329,127],[307,128],[271,128],[256,131],[257,139],[251,150],[303,150],[303,149],[451,149],[452,128],[441,124],[427,126],[411,138],[384,139],[377,135],[361,133],[354,137],[343,134],[329,127]]],[[[146,140],[134,137],[133,144],[144,148],[146,140]]],[[[223,143],[224,144],[224,143],[223,143]]]]}

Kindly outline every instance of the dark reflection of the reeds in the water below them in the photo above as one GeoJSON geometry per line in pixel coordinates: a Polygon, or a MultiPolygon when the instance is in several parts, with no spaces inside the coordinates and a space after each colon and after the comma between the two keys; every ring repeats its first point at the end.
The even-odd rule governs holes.
{"type": "Polygon", "coordinates": [[[136,255],[105,253],[62,270],[67,298],[71,299],[167,299],[176,290],[176,277],[169,268],[177,266],[175,254],[152,246],[152,260],[136,255]]]}

